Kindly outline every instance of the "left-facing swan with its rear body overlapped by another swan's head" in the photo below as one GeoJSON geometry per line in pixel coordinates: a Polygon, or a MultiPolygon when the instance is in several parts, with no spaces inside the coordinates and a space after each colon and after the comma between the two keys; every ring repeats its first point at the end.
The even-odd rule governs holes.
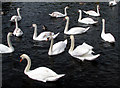
{"type": "Polygon", "coordinates": [[[53,38],[56,38],[59,35],[59,33],[54,34],[53,32],[45,31],[45,32],[40,33],[37,36],[37,25],[36,24],[32,24],[32,26],[34,27],[33,40],[46,41],[47,37],[50,36],[51,34],[52,34],[53,38]]]}

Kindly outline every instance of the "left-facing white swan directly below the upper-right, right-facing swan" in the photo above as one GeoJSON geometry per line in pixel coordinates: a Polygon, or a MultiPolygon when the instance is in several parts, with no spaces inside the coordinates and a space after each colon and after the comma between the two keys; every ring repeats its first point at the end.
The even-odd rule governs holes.
{"type": "Polygon", "coordinates": [[[94,21],[92,18],[89,18],[89,17],[82,19],[82,11],[79,10],[78,12],[80,13],[78,22],[84,23],[84,24],[96,24],[98,22],[98,21],[94,21]]]}

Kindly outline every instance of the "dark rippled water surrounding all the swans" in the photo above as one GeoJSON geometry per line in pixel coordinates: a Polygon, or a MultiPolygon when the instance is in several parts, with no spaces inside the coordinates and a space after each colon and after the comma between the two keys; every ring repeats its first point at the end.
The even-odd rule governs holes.
{"type": "MultiPolygon", "coordinates": [[[[68,54],[70,47],[69,36],[64,35],[65,21],[62,18],[51,18],[48,14],[53,11],[63,12],[65,6],[70,17],[70,27],[86,26],[77,22],[78,9],[96,10],[96,3],[80,5],[78,2],[69,3],[3,3],[4,15],[2,17],[2,43],[7,44],[6,35],[13,32],[15,25],[9,22],[12,15],[16,14],[16,8],[21,8],[22,20],[19,27],[23,30],[22,38],[12,37],[15,51],[11,54],[3,54],[2,58],[2,88],[120,88],[119,71],[119,4],[113,8],[108,3],[99,3],[101,17],[92,17],[98,20],[97,25],[90,25],[90,30],[82,35],[75,35],[76,46],[86,42],[94,46],[94,51],[101,54],[94,61],[80,61],[68,54]],[[106,32],[111,32],[116,42],[114,45],[104,42],[100,33],[102,30],[101,19],[106,19],[106,32]],[[60,55],[48,56],[50,42],[33,41],[33,23],[38,25],[38,34],[42,31],[42,25],[55,33],[61,32],[55,42],[68,39],[68,46],[60,55]],[[56,82],[39,82],[28,78],[24,73],[26,60],[19,62],[19,56],[26,53],[32,60],[31,69],[46,66],[57,73],[64,73],[66,76],[56,82]]],[[[83,17],[87,17],[83,14],[83,17]]]]}

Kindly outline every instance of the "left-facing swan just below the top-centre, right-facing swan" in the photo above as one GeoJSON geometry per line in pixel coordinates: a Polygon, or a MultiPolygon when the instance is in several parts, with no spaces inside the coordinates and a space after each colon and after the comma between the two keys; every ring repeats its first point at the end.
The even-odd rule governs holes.
{"type": "Polygon", "coordinates": [[[64,33],[65,34],[82,34],[82,33],[85,33],[90,27],[87,27],[87,28],[83,28],[83,27],[73,27],[71,28],[70,30],[68,30],[68,25],[69,25],[69,17],[66,16],[65,19],[67,20],[66,22],[66,26],[65,26],[65,29],[64,29],[64,33]]]}

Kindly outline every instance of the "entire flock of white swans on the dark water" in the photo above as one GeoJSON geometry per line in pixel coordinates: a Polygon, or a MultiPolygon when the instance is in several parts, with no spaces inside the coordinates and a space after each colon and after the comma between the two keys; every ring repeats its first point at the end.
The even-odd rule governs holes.
{"type": "MultiPolygon", "coordinates": [[[[112,1],[111,3],[109,3],[109,5],[115,5],[115,0],[112,1]],[[112,4],[113,2],[113,4],[112,4]]],[[[82,34],[87,32],[90,27],[84,28],[84,27],[73,27],[71,29],[69,29],[69,17],[67,16],[67,9],[69,7],[65,7],[65,14],[62,14],[60,12],[53,12],[51,14],[49,14],[51,17],[64,17],[64,20],[66,20],[66,25],[65,25],[65,29],[64,29],[64,34],[66,35],[70,35],[70,40],[71,40],[71,46],[70,49],[68,50],[68,53],[74,57],[74,58],[78,58],[82,61],[84,60],[94,60],[97,57],[100,56],[100,54],[93,54],[95,53],[93,51],[93,46],[88,45],[87,43],[83,43],[82,45],[78,45],[76,48],[74,48],[75,46],[75,39],[74,36],[76,34],[82,34]],[[69,29],[69,30],[68,30],[69,29]]],[[[8,46],[4,45],[4,44],[0,44],[0,53],[12,53],[14,51],[14,47],[12,46],[10,37],[13,35],[15,35],[16,37],[20,37],[23,35],[22,30],[18,27],[18,21],[20,21],[22,19],[21,15],[20,15],[20,8],[17,8],[17,13],[18,15],[12,16],[11,20],[12,22],[15,22],[16,24],[16,28],[15,30],[12,32],[9,32],[7,35],[7,42],[8,42],[8,46]]],[[[78,22],[80,23],[84,23],[84,24],[96,24],[98,23],[98,21],[94,21],[92,18],[82,18],[82,10],[79,10],[79,18],[78,18],[78,22]]],[[[91,15],[91,16],[100,16],[100,12],[99,12],[99,5],[97,5],[97,12],[90,10],[90,11],[84,11],[84,13],[91,15]]],[[[102,32],[101,32],[101,38],[104,41],[110,42],[110,43],[114,43],[115,42],[115,38],[113,37],[113,35],[111,33],[105,33],[105,19],[102,19],[102,32]]],[[[65,51],[65,48],[67,46],[67,42],[68,40],[65,39],[64,41],[59,41],[57,43],[54,44],[54,39],[59,35],[59,33],[54,34],[54,32],[51,31],[45,31],[40,33],[39,35],[37,35],[37,25],[36,24],[32,24],[32,27],[34,27],[34,34],[33,34],[33,40],[36,41],[51,41],[50,44],[50,48],[48,51],[48,55],[57,55],[60,54],[62,52],[65,51]]],[[[31,59],[28,55],[26,54],[22,54],[21,56],[21,60],[26,59],[27,60],[27,66],[24,70],[24,73],[26,75],[28,75],[28,77],[30,77],[31,79],[34,80],[38,80],[38,81],[42,81],[42,82],[46,82],[46,81],[56,81],[57,79],[63,77],[65,74],[57,74],[55,73],[53,70],[47,68],[47,67],[38,67],[34,70],[30,70],[31,67],[31,59]]]]}

